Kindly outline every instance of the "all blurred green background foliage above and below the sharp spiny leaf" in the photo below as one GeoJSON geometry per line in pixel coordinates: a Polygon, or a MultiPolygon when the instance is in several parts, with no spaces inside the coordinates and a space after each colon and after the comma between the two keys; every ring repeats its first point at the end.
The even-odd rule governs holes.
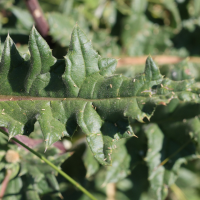
{"type": "MultiPolygon", "coordinates": [[[[102,56],[200,55],[199,0],[39,0],[39,3],[50,26],[53,54],[57,58],[66,55],[76,22],[102,56]]],[[[0,1],[2,43],[9,32],[18,49],[27,52],[33,23],[23,0],[0,1]]],[[[144,65],[119,68],[117,73],[134,77],[143,69],[144,65]]],[[[199,65],[188,60],[163,65],[160,70],[172,80],[200,81],[199,65]]],[[[178,112],[174,111],[175,107],[176,102],[172,102],[165,108],[160,106],[158,112],[173,119],[178,112]]],[[[139,138],[120,141],[121,148],[113,155],[112,167],[99,165],[80,130],[72,141],[71,156],[60,155],[56,147],[44,154],[42,144],[35,149],[57,165],[62,164],[67,174],[99,200],[106,199],[110,182],[115,185],[116,200],[197,200],[200,195],[199,127],[199,116],[157,124],[152,119],[148,125],[134,126],[139,138]],[[168,162],[159,166],[167,158],[168,162]]],[[[39,127],[38,134],[33,135],[36,135],[34,140],[41,138],[39,127]]],[[[46,164],[15,144],[8,144],[7,138],[0,134],[0,183],[7,170],[12,175],[3,200],[28,199],[27,195],[33,199],[56,200],[61,193],[64,199],[87,199],[46,164]],[[9,149],[20,155],[19,162],[6,161],[9,149]]]]}

